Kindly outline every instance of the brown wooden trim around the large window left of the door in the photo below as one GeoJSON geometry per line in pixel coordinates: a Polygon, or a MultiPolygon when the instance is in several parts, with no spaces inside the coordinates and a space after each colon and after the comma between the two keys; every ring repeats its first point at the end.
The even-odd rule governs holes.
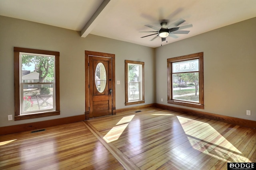
{"type": "Polygon", "coordinates": [[[14,120],[60,115],[60,52],[14,47],[14,120]],[[21,115],[20,112],[20,53],[55,56],[55,111],[21,115]]]}

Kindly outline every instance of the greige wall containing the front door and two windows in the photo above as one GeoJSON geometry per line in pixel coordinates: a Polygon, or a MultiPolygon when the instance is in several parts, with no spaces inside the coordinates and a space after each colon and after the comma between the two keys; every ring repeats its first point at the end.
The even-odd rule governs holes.
{"type": "Polygon", "coordinates": [[[0,25],[0,127],[84,114],[85,50],[116,55],[116,80],[121,82],[116,85],[116,109],[131,107],[124,105],[126,59],[145,62],[145,104],[155,102],[154,49],[150,47],[96,35],[82,38],[76,31],[4,16],[0,25]],[[8,121],[7,115],[14,115],[13,47],[60,52],[60,115],[8,121]]]}

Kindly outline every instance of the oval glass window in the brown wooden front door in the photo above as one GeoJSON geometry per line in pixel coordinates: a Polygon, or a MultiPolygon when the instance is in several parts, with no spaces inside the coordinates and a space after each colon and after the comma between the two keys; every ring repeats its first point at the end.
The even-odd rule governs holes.
{"type": "Polygon", "coordinates": [[[98,63],[96,66],[95,85],[100,93],[102,93],[106,87],[106,68],[102,63],[98,63]]]}

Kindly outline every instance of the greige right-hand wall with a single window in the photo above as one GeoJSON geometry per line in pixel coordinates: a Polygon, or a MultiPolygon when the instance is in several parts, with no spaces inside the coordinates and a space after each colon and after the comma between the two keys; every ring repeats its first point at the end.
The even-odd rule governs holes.
{"type": "Polygon", "coordinates": [[[205,107],[196,110],[256,121],[255,30],[252,18],[156,48],[156,103],[176,106],[166,102],[166,60],[204,52],[205,107]]]}

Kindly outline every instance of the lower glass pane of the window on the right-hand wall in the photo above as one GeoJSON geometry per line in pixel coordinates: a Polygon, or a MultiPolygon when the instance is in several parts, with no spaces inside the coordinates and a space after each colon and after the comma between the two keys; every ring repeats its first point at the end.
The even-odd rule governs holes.
{"type": "Polygon", "coordinates": [[[199,73],[172,74],[172,99],[199,103],[199,73]]]}

